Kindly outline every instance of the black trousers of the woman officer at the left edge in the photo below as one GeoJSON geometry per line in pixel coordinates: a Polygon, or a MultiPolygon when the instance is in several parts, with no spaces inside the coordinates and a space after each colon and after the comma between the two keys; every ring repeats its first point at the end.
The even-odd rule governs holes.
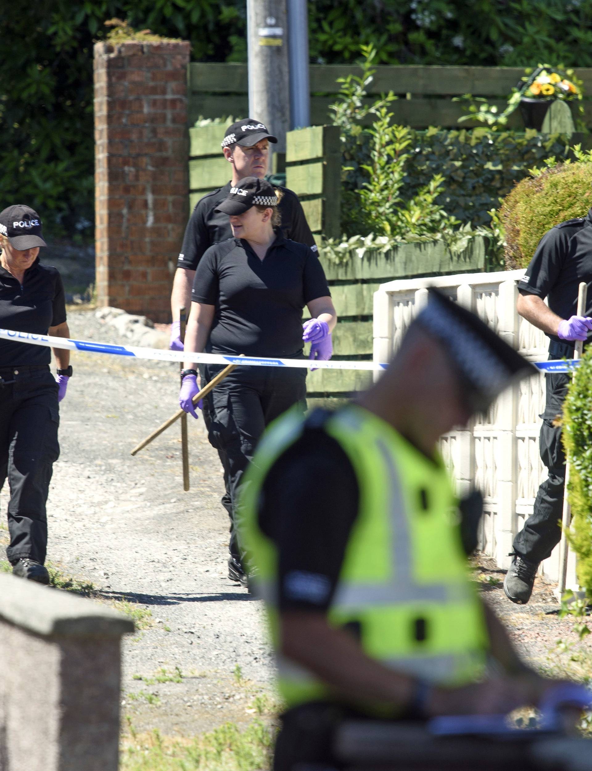
{"type": "Polygon", "coordinates": [[[45,503],[52,464],[59,457],[58,385],[49,366],[0,368],[0,490],[8,478],[6,556],[43,564],[47,550],[45,503]]]}

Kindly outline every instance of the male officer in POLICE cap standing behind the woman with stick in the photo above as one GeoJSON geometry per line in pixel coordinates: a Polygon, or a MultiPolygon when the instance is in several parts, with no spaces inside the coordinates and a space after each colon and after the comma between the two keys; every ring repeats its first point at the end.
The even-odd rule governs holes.
{"type": "MultiPolygon", "coordinates": [[[[262,179],[267,174],[270,142],[275,144],[278,140],[267,131],[261,121],[254,118],[245,118],[233,123],[224,134],[222,152],[232,167],[232,178],[224,187],[219,187],[201,198],[187,223],[170,298],[173,314],[170,348],[173,351],[183,350],[179,337],[180,309],[191,307],[191,290],[197,264],[208,247],[232,238],[228,215],[217,210],[217,206],[226,200],[230,187],[236,187],[238,180],[244,177],[262,179]]],[[[282,234],[291,241],[306,244],[316,250],[315,239],[304,217],[298,196],[285,187],[279,189],[283,193],[280,201],[282,234]]]]}

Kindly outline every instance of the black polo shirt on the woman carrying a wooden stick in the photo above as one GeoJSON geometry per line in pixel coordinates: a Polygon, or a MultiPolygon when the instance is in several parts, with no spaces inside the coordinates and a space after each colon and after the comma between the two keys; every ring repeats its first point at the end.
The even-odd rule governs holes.
{"type": "Polygon", "coordinates": [[[316,251],[278,234],[264,260],[241,238],[211,246],[192,299],[216,306],[211,352],[289,359],[302,353],[302,309],[330,294],[316,251]]]}

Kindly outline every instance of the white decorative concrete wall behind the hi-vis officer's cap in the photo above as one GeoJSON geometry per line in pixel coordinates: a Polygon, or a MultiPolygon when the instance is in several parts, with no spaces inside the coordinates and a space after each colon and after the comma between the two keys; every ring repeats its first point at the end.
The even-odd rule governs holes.
{"type": "MultiPolygon", "coordinates": [[[[427,302],[427,287],[444,291],[476,312],[506,342],[530,361],[547,359],[548,340],[516,312],[517,282],[524,271],[458,274],[381,284],[374,295],[374,360],[386,362],[405,330],[427,302]]],[[[506,389],[486,415],[442,439],[442,453],[459,494],[476,486],[485,497],[480,548],[508,567],[514,534],[533,510],[537,488],[547,475],[539,456],[540,418],[545,375],[506,389]]],[[[541,571],[557,581],[559,547],[541,571]]],[[[568,563],[568,587],[575,585],[574,557],[568,563]]]]}

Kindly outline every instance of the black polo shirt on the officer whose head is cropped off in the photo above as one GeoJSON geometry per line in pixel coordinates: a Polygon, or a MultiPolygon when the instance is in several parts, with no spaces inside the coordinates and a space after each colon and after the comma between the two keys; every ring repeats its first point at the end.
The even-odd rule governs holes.
{"type": "MultiPolygon", "coordinates": [[[[570,318],[577,313],[581,281],[588,284],[586,315],[592,316],[592,209],[586,217],[562,222],[543,235],[518,289],[543,300],[548,297],[553,313],[570,318]]],[[[547,337],[559,341],[557,335],[547,337]]]]}

